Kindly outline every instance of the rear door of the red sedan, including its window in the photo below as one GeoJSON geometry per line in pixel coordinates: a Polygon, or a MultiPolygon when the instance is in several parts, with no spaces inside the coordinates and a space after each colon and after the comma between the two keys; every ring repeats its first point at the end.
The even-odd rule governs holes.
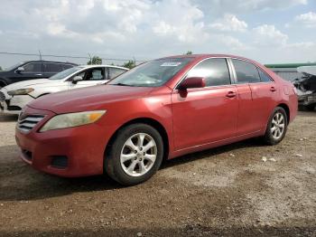
{"type": "Polygon", "coordinates": [[[258,68],[251,62],[231,60],[239,96],[237,135],[257,132],[267,123],[272,110],[274,91],[271,80],[261,79],[258,68]]]}

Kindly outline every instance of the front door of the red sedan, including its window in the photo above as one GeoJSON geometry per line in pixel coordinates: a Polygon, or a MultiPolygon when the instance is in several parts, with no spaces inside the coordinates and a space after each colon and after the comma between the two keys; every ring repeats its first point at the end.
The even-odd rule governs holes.
{"type": "Polygon", "coordinates": [[[237,132],[237,88],[231,84],[225,58],[200,62],[189,77],[204,77],[205,88],[172,91],[172,118],[176,149],[234,137],[237,132]]]}

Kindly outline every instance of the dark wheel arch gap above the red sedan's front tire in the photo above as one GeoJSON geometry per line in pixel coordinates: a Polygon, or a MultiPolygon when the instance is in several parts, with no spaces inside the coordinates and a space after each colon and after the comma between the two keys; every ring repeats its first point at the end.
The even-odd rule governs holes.
{"type": "Polygon", "coordinates": [[[127,122],[125,122],[121,127],[116,129],[116,132],[109,138],[108,142],[107,142],[107,147],[105,150],[105,155],[109,149],[109,147],[113,144],[117,132],[122,129],[125,128],[128,125],[131,124],[136,124],[136,123],[144,123],[146,125],[152,126],[153,128],[155,128],[159,134],[162,136],[163,138],[163,160],[167,159],[169,156],[169,151],[170,151],[170,146],[169,146],[169,137],[168,137],[168,133],[167,130],[163,127],[162,123],[160,123],[159,121],[157,121],[156,119],[152,119],[152,118],[137,118],[137,119],[132,119],[129,120],[127,122]]]}

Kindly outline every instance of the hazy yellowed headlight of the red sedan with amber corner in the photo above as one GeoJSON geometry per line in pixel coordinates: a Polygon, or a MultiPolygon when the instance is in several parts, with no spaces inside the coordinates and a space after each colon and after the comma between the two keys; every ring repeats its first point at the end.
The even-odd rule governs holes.
{"type": "Polygon", "coordinates": [[[87,111],[79,113],[60,114],[52,117],[41,128],[41,132],[60,129],[60,128],[72,128],[81,125],[94,123],[100,119],[107,110],[87,111]]]}

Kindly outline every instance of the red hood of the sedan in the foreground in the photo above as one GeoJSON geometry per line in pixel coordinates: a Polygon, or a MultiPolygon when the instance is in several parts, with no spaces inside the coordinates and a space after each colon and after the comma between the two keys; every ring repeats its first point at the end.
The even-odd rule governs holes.
{"type": "Polygon", "coordinates": [[[28,104],[33,109],[45,109],[54,113],[70,113],[106,109],[107,103],[131,100],[147,95],[153,88],[98,85],[88,88],[53,93],[28,104]]]}

